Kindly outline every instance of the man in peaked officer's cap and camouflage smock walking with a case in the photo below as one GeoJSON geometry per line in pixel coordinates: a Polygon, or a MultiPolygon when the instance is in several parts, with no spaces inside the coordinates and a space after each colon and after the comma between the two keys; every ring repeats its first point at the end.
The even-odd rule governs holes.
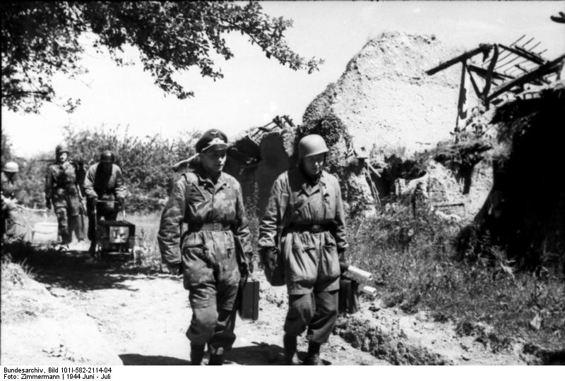
{"type": "Polygon", "coordinates": [[[206,131],[196,143],[196,152],[200,162],[174,184],[157,240],[169,272],[182,273],[189,290],[192,320],[186,337],[191,341],[191,364],[200,365],[208,344],[208,365],[222,365],[235,341],[240,270],[247,271],[245,265],[242,269],[238,265],[235,240],[249,258],[251,244],[242,188],[222,172],[226,135],[206,131]],[[182,224],[187,225],[184,234],[182,224]]]}

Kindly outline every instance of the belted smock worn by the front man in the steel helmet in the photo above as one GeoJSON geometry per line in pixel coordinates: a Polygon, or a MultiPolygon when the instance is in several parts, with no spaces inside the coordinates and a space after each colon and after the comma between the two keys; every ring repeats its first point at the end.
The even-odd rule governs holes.
{"type": "Polygon", "coordinates": [[[289,294],[339,289],[339,258],[345,253],[347,242],[338,179],[323,171],[319,182],[311,186],[298,168],[278,176],[259,226],[258,246],[279,248],[289,294]],[[277,229],[283,224],[283,217],[292,215],[310,195],[313,197],[309,205],[283,230],[278,243],[277,229]],[[326,226],[326,229],[308,231],[308,226],[313,225],[326,226]],[[293,226],[305,229],[293,229],[293,226]]]}

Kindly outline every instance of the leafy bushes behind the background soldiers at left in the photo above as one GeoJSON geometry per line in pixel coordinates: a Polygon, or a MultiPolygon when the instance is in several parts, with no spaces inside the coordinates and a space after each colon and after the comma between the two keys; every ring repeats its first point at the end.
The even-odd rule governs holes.
{"type": "MultiPolygon", "coordinates": [[[[64,128],[64,142],[69,146],[71,159],[83,162],[85,167],[98,162],[100,152],[112,150],[123,173],[129,192],[126,208],[129,211],[152,212],[160,210],[172,187],[175,174],[172,165],[194,155],[194,144],[201,131],[191,131],[177,138],[153,137],[137,138],[121,133],[119,128],[100,128],[77,130],[71,126],[64,128]]],[[[54,159],[55,147],[53,147],[54,159]]],[[[8,140],[2,134],[2,164],[13,159],[8,140]]],[[[49,158],[51,159],[51,158],[49,158]]],[[[44,205],[44,176],[49,162],[35,157],[30,160],[16,159],[20,164],[18,174],[22,189],[18,200],[30,207],[44,205]]]]}

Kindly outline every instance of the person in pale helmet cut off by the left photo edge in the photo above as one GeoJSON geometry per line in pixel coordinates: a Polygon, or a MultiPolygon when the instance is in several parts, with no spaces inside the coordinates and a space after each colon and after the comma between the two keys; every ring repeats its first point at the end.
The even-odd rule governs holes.
{"type": "Polygon", "coordinates": [[[1,197],[2,197],[2,237],[6,234],[6,241],[11,241],[18,238],[18,216],[16,214],[16,208],[18,201],[16,200],[16,193],[19,191],[18,181],[16,176],[18,176],[18,171],[20,170],[18,163],[7,162],[2,167],[1,174],[1,197]]]}

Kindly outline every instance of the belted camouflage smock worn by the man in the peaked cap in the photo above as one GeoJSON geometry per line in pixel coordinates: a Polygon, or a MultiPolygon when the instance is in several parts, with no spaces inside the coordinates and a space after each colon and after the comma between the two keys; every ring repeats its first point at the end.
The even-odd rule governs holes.
{"type": "MultiPolygon", "coordinates": [[[[252,254],[244,214],[242,187],[229,174],[222,172],[214,184],[198,166],[174,184],[162,212],[157,241],[163,262],[182,263],[184,288],[191,291],[193,308],[215,303],[210,294],[237,292],[240,275],[234,237],[242,243],[247,258],[252,254]],[[210,223],[230,228],[200,230],[210,223]],[[181,224],[187,225],[182,236],[181,224]]],[[[223,303],[219,308],[232,310],[234,295],[218,300],[223,303]]]]}

